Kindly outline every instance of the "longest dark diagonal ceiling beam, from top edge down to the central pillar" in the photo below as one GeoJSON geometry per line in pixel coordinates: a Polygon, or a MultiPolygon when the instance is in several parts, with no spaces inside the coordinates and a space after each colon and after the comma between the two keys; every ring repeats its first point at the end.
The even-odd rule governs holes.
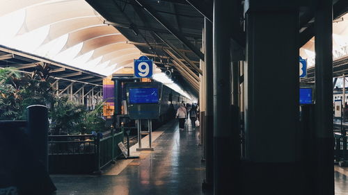
{"type": "Polygon", "coordinates": [[[154,9],[152,9],[150,6],[148,6],[146,3],[144,3],[144,0],[134,0],[137,3],[139,3],[140,6],[143,6],[143,8],[150,14],[152,17],[154,17],[159,24],[164,26],[169,32],[171,32],[175,37],[177,37],[180,42],[182,42],[184,45],[186,45],[189,49],[193,51],[193,53],[196,53],[196,55],[200,58],[200,60],[204,61],[204,54],[196,47],[194,46],[189,40],[187,40],[182,33],[177,31],[169,22],[166,21],[161,15],[159,15],[154,9]]]}

